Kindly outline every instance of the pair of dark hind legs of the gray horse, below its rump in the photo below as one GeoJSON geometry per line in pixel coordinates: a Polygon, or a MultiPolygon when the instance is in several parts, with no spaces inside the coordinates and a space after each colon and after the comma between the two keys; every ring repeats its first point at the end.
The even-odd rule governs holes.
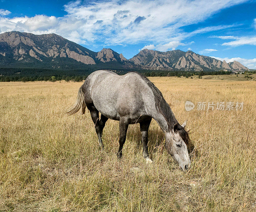
{"type": "Polygon", "coordinates": [[[90,107],[88,107],[88,109],[91,113],[92,121],[94,123],[95,130],[96,130],[96,133],[99,138],[100,148],[104,149],[104,145],[102,144],[101,135],[102,135],[102,130],[103,130],[108,118],[101,114],[100,119],[99,119],[99,111],[94,106],[90,106],[90,107]]]}

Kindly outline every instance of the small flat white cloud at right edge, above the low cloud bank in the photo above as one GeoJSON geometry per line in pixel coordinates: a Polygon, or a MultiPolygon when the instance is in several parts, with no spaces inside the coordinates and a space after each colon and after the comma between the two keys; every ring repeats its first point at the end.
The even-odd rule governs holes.
{"type": "Polygon", "coordinates": [[[222,40],[233,40],[229,42],[222,43],[222,46],[242,46],[242,45],[256,45],[256,36],[244,36],[244,37],[235,37],[235,36],[210,36],[211,38],[220,38],[222,40]]]}

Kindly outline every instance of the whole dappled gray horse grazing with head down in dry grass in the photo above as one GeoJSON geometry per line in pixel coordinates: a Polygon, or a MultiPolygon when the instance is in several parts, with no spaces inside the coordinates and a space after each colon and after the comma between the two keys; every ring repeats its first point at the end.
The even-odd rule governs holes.
{"type": "Polygon", "coordinates": [[[119,121],[119,158],[122,157],[128,125],[140,123],[143,157],[147,162],[152,162],[148,154],[148,128],[153,118],[165,134],[168,153],[182,170],[189,169],[189,136],[184,129],[187,121],[182,125],[178,123],[160,90],[147,77],[136,72],[117,75],[111,71],[95,71],[79,88],[76,103],[67,114],[75,114],[80,108],[81,114],[84,114],[85,107],[91,113],[100,148],[104,148],[101,135],[108,119],[119,121]]]}

